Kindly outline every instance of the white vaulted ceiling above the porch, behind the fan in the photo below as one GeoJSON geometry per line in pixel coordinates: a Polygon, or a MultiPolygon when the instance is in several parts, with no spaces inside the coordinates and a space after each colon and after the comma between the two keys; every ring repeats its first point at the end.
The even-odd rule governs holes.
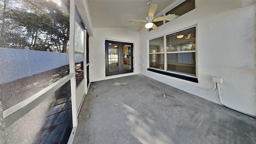
{"type": "MultiPolygon", "coordinates": [[[[129,23],[129,20],[144,20],[148,16],[148,0],[88,0],[90,17],[93,28],[128,28],[140,27],[144,23],[129,23]]],[[[173,0],[152,0],[152,4],[157,4],[156,16],[160,16],[162,11],[173,0]]]]}

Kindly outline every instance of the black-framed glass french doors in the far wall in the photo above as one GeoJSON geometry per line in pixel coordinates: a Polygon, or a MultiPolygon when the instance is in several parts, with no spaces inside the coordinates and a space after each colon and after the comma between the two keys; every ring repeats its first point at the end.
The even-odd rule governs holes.
{"type": "Polygon", "coordinates": [[[133,72],[133,43],[105,41],[106,76],[133,72]]]}

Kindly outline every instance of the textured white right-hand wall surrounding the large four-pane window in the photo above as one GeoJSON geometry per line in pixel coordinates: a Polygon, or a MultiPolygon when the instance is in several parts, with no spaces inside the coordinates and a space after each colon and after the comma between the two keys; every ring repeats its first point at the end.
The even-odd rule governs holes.
{"type": "Polygon", "coordinates": [[[217,90],[196,86],[211,89],[214,87],[211,77],[222,77],[223,103],[256,116],[255,4],[242,8],[242,1],[197,0],[196,6],[157,31],[144,29],[140,32],[140,73],[218,104],[217,90]],[[198,84],[146,70],[149,67],[148,40],[194,24],[197,24],[198,84]]]}

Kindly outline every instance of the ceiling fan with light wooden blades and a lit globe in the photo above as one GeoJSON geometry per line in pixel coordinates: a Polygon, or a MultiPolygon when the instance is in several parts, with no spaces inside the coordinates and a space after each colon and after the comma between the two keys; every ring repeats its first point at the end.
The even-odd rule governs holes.
{"type": "Polygon", "coordinates": [[[150,7],[149,7],[149,11],[148,11],[148,16],[145,18],[145,20],[130,20],[129,21],[129,22],[146,22],[146,24],[143,24],[137,30],[137,32],[142,30],[142,28],[144,28],[144,26],[146,28],[153,28],[153,30],[158,30],[156,24],[154,24],[153,22],[159,22],[159,21],[163,21],[163,20],[172,19],[175,16],[175,14],[170,14],[168,16],[161,16],[159,18],[154,19],[154,14],[156,12],[157,5],[156,4],[151,4],[151,0],[147,2],[147,5],[150,6],[150,7]]]}

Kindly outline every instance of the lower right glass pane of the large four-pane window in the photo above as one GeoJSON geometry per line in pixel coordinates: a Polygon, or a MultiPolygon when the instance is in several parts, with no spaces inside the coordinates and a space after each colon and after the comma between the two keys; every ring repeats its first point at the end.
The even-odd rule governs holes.
{"type": "Polygon", "coordinates": [[[195,52],[167,54],[167,70],[196,76],[195,52]]]}

